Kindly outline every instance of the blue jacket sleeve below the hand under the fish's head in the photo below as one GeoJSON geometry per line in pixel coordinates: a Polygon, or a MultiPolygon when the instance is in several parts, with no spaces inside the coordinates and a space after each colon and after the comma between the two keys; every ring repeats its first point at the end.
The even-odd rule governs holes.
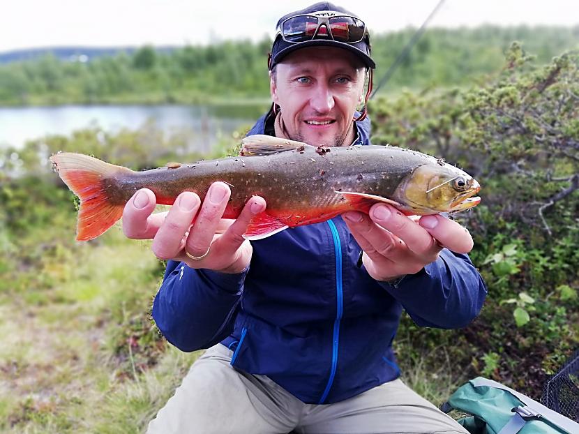
{"type": "Polygon", "coordinates": [[[468,255],[448,249],[419,273],[379,285],[400,301],[416,324],[442,329],[466,327],[479,314],[487,294],[468,255]]]}

